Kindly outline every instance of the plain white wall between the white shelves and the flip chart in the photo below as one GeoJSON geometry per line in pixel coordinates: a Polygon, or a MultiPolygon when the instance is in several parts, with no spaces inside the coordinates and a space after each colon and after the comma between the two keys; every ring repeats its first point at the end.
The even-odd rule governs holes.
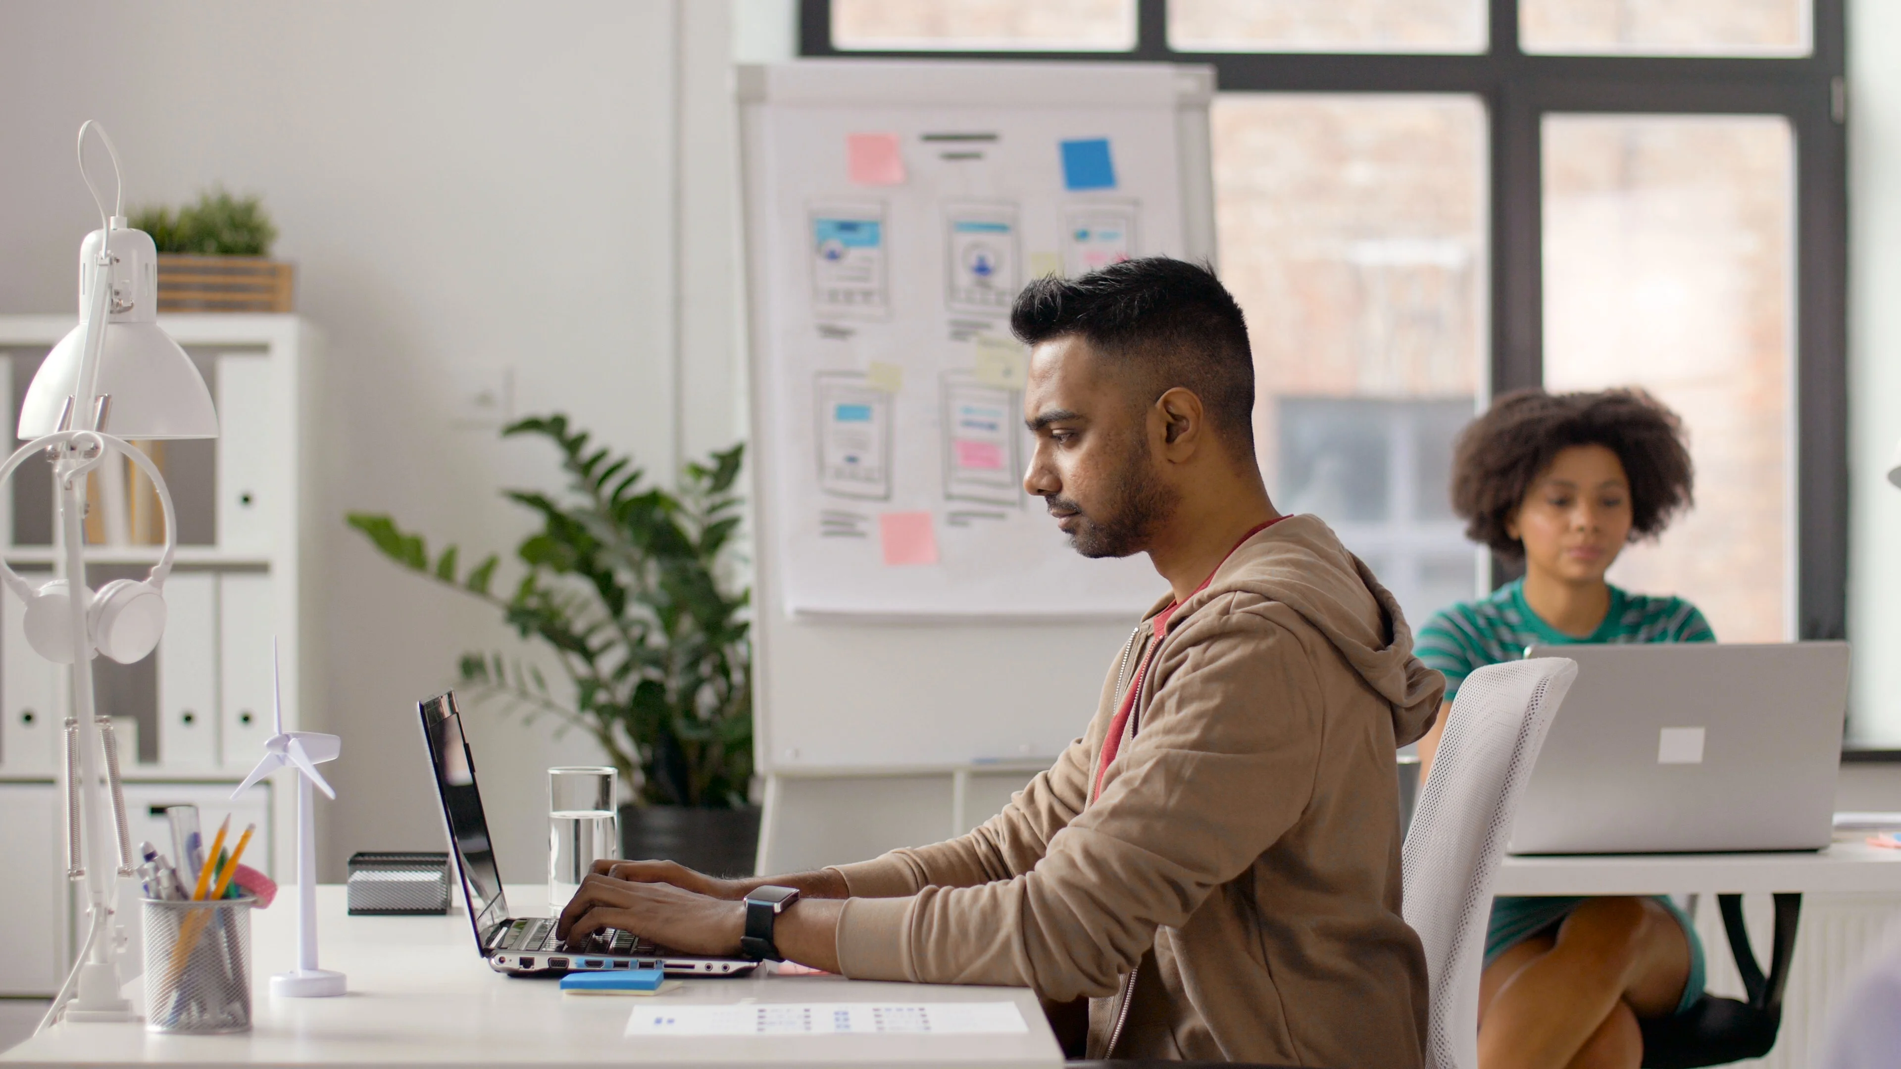
{"type": "MultiPolygon", "coordinates": [[[[511,367],[517,413],[566,411],[650,472],[739,437],[730,42],[728,4],[688,0],[0,0],[0,312],[74,308],[97,215],[72,137],[97,118],[133,204],[264,194],[329,335],[325,879],[352,850],[439,848],[414,702],[464,649],[511,647],[342,514],[468,559],[525,531],[500,487],[559,485],[549,447],[454,428],[456,392],[511,367]]],[[[506,875],[544,879],[542,770],[597,757],[471,719],[506,875]]]]}

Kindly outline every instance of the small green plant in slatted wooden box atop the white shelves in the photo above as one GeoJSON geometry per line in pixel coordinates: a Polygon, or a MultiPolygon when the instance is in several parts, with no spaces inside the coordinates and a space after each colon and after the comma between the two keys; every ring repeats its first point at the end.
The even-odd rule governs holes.
{"type": "Polygon", "coordinates": [[[278,228],[255,196],[222,188],[177,211],[133,211],[131,224],[158,245],[160,312],[289,312],[295,268],[272,261],[278,228]]]}

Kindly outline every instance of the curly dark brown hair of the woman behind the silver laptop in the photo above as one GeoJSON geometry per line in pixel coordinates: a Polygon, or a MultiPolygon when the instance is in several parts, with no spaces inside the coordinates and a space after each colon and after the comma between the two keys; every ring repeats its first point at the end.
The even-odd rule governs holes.
{"type": "Polygon", "coordinates": [[[1494,554],[1523,559],[1525,544],[1506,527],[1559,453],[1603,445],[1618,455],[1631,485],[1631,540],[1656,538],[1694,500],[1696,466],[1682,420],[1637,388],[1599,394],[1519,390],[1466,424],[1452,447],[1452,512],[1466,536],[1494,554]]]}

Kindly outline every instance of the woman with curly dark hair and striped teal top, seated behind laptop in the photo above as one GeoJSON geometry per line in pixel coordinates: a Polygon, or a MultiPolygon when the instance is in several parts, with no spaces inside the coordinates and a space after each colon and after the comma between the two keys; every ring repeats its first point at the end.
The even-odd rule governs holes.
{"type": "MultiPolygon", "coordinates": [[[[1525,561],[1525,578],[1437,612],[1418,656],[1447,677],[1445,730],[1471,671],[1532,645],[1707,643],[1680,597],[1604,582],[1625,544],[1690,504],[1692,466],[1675,413],[1641,390],[1500,398],[1458,437],[1452,506],[1466,534],[1525,561]]],[[[1682,1012],[1703,993],[1703,949],[1667,898],[1498,898],[1479,989],[1481,1069],[1635,1069],[1639,1018],[1682,1012]]]]}

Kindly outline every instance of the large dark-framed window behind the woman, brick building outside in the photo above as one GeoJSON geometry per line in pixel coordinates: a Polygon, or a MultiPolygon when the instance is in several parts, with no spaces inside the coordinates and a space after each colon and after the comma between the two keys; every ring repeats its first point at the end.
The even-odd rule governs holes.
{"type": "Polygon", "coordinates": [[[1675,407],[1696,508],[1612,578],[1840,637],[1842,0],[802,0],[804,55],[1209,63],[1262,470],[1407,612],[1502,582],[1449,443],[1523,386],[1675,407]],[[977,42],[977,44],[973,44],[977,42]]]}

